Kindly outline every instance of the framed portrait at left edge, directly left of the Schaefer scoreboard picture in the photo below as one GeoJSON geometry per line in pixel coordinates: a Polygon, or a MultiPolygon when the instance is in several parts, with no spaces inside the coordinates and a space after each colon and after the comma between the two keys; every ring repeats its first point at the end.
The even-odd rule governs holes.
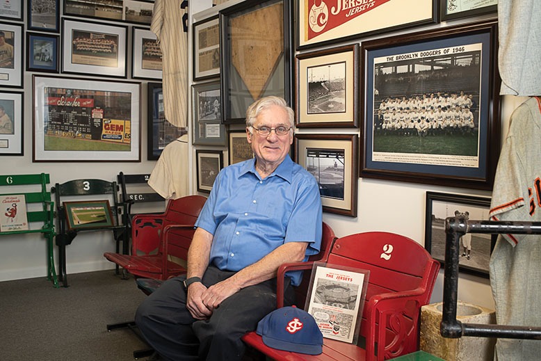
{"type": "Polygon", "coordinates": [[[24,153],[23,93],[0,91],[0,156],[24,153]]]}

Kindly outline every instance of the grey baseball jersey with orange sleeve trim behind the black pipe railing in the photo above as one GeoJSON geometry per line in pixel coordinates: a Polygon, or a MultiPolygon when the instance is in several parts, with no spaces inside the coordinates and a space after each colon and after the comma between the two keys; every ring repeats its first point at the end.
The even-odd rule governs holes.
{"type": "MultiPolygon", "coordinates": [[[[490,206],[492,220],[541,220],[541,100],[532,97],[511,115],[490,206]]],[[[541,235],[499,236],[490,259],[496,321],[541,326],[541,235]]],[[[498,339],[496,360],[539,360],[541,342],[498,339]]]]}

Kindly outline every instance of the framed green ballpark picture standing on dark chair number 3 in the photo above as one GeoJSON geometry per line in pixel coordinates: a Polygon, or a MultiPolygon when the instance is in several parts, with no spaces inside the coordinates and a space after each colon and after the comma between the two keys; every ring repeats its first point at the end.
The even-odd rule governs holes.
{"type": "Polygon", "coordinates": [[[92,230],[114,224],[108,200],[63,202],[67,230],[92,230]]]}

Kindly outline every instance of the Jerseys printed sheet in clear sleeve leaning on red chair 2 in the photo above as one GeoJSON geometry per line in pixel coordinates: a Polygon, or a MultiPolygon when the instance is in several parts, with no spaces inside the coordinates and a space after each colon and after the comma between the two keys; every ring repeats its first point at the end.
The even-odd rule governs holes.
{"type": "Polygon", "coordinates": [[[307,307],[323,337],[357,342],[369,271],[315,264],[307,307]]]}

